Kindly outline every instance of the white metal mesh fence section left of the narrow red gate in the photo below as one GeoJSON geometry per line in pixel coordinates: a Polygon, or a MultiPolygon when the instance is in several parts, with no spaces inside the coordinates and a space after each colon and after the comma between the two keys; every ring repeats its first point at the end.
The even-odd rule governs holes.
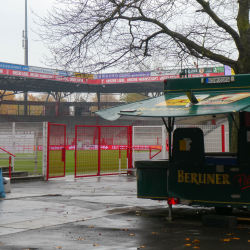
{"type": "MultiPolygon", "coordinates": [[[[0,124],[0,147],[16,155],[13,171],[44,175],[47,168],[47,122],[11,122],[0,124]]],[[[9,165],[9,157],[0,151],[0,164],[9,165]]]]}

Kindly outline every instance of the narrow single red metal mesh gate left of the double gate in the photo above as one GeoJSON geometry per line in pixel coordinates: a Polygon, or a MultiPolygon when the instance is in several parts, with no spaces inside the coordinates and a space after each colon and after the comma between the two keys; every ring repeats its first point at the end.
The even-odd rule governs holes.
{"type": "Polygon", "coordinates": [[[66,125],[48,123],[47,180],[65,176],[66,125]]]}

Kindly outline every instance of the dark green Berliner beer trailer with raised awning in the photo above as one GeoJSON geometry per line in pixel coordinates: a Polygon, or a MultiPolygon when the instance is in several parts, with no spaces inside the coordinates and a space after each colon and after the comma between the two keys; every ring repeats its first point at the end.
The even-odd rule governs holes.
{"type": "MultiPolygon", "coordinates": [[[[169,160],[141,160],[137,197],[167,200],[172,205],[215,207],[218,214],[250,208],[250,75],[179,78],[164,81],[164,95],[97,111],[108,120],[120,116],[162,118],[169,141],[169,160]],[[239,112],[240,124],[233,113],[239,112]],[[228,115],[238,131],[238,152],[205,153],[199,128],[177,128],[175,118],[228,115]],[[165,121],[167,118],[167,121],[165,121]],[[173,146],[171,145],[173,142],[173,146]],[[172,149],[172,150],[171,150],[172,149]]],[[[237,133],[237,132],[236,132],[237,133]]]]}

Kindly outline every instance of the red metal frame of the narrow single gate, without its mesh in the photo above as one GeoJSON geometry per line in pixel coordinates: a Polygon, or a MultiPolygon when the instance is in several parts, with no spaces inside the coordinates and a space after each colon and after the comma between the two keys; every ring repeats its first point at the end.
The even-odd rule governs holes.
{"type": "Polygon", "coordinates": [[[46,180],[51,179],[51,178],[58,178],[58,177],[65,177],[65,163],[66,163],[66,125],[65,124],[57,124],[57,123],[50,123],[48,122],[48,138],[47,138],[47,176],[46,180]],[[63,126],[64,127],[64,140],[63,140],[63,148],[62,150],[62,158],[61,161],[64,163],[64,170],[63,170],[63,175],[60,176],[49,176],[49,166],[50,166],[50,160],[49,160],[49,155],[50,155],[50,128],[51,126],[63,126]]]}

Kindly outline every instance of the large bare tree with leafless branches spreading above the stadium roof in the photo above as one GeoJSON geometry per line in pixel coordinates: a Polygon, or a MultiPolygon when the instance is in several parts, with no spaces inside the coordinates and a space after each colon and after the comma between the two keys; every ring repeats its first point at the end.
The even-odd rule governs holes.
{"type": "Polygon", "coordinates": [[[250,73],[250,0],[57,0],[41,18],[50,63],[86,73],[149,57],[250,73]]]}

